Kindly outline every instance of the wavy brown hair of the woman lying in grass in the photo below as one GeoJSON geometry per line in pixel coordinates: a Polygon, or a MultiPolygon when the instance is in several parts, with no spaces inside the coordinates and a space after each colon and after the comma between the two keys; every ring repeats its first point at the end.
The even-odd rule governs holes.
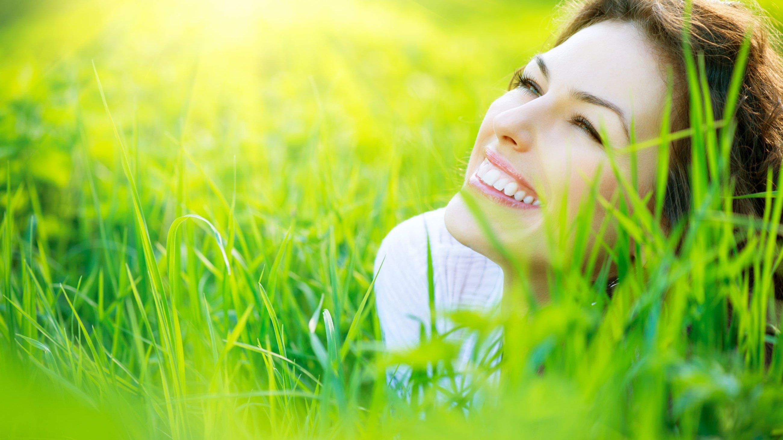
{"type": "MultiPolygon", "coordinates": [[[[763,193],[767,170],[777,177],[783,160],[783,59],[776,47],[777,33],[770,20],[757,12],[756,5],[720,0],[691,0],[690,42],[692,53],[704,54],[705,78],[716,119],[723,115],[734,63],[750,35],[745,78],[734,115],[736,131],[730,154],[730,174],[734,195],[763,193]]],[[[560,45],[584,27],[605,20],[636,25],[659,49],[663,60],[673,68],[674,90],[672,129],[688,126],[690,111],[685,81],[683,27],[686,24],[682,0],[588,0],[569,2],[569,18],[555,45],[560,45]]],[[[674,141],[669,163],[669,179],[663,214],[671,226],[684,218],[691,205],[691,140],[674,141]]],[[[774,183],[776,179],[773,179],[774,183]]],[[[734,199],[734,212],[760,217],[763,198],[734,199]]]]}

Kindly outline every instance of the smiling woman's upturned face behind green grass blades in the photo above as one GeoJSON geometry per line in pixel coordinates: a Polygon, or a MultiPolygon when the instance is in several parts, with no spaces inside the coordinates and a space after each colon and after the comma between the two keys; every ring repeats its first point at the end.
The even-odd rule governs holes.
{"type": "MultiPolygon", "coordinates": [[[[619,170],[630,176],[631,155],[622,148],[630,143],[632,119],[637,142],[659,135],[666,102],[663,71],[637,27],[601,22],[533,57],[514,75],[512,89],[489,106],[463,190],[475,196],[493,233],[514,256],[547,262],[543,211],[564,196],[561,206],[569,219],[576,217],[592,182],[600,197],[612,199],[619,183],[606,149],[615,149],[619,170]]],[[[637,152],[643,195],[654,186],[656,150],[637,152]]],[[[596,208],[589,220],[593,231],[604,214],[596,208]]],[[[446,227],[461,243],[500,265],[507,262],[460,193],[446,207],[446,227]]],[[[614,237],[610,228],[604,239],[613,243],[614,237]]]]}

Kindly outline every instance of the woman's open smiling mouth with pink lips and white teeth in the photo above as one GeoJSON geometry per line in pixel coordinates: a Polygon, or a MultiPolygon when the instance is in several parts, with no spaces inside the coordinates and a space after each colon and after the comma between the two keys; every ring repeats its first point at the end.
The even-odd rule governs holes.
{"type": "MultiPolygon", "coordinates": [[[[489,153],[489,151],[487,152],[489,153]]],[[[489,154],[488,154],[489,156],[489,154]]],[[[471,176],[470,183],[494,200],[518,208],[541,207],[536,193],[499,166],[484,159],[471,176]]]]}

